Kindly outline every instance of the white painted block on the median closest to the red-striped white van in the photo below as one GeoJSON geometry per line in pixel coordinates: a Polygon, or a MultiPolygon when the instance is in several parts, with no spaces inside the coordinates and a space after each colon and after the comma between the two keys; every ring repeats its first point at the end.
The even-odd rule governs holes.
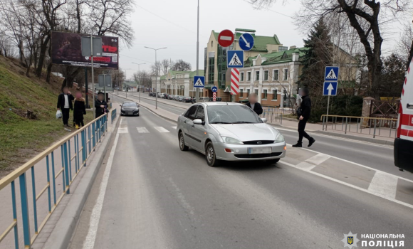
{"type": "Polygon", "coordinates": [[[375,176],[369,186],[369,191],[379,196],[396,198],[397,176],[376,171],[375,176]]]}

